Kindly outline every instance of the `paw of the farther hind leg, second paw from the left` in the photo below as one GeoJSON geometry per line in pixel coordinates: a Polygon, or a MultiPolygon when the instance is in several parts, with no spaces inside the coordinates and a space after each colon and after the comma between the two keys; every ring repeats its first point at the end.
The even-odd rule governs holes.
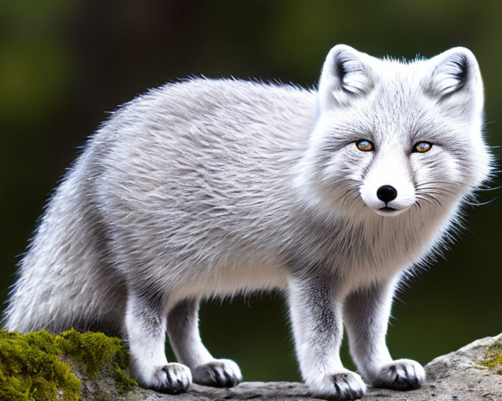
{"type": "Polygon", "coordinates": [[[233,387],[240,383],[242,374],[230,359],[215,359],[192,369],[193,382],[212,387],[233,387]]]}

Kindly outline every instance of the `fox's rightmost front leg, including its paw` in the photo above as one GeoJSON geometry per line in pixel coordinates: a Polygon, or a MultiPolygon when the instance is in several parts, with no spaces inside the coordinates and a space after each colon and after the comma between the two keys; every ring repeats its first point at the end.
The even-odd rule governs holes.
{"type": "Polygon", "coordinates": [[[424,368],[411,359],[393,360],[385,336],[394,282],[373,284],[344,300],[343,320],[350,353],[359,372],[375,387],[411,390],[425,380],[424,368]]]}

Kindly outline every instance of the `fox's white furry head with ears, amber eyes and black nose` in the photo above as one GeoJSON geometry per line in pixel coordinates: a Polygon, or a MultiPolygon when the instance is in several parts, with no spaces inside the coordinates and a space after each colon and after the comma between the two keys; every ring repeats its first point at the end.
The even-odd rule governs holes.
{"type": "Polygon", "coordinates": [[[337,45],[317,96],[301,181],[336,213],[436,211],[490,172],[481,75],[468,49],[399,62],[337,45]]]}

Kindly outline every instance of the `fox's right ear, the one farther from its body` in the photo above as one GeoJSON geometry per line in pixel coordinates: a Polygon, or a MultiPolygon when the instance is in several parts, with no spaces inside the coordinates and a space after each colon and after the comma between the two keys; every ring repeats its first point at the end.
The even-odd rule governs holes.
{"type": "Polygon", "coordinates": [[[432,97],[445,99],[454,94],[471,97],[481,91],[482,84],[476,58],[463,47],[450,49],[433,57],[428,92],[432,97]]]}

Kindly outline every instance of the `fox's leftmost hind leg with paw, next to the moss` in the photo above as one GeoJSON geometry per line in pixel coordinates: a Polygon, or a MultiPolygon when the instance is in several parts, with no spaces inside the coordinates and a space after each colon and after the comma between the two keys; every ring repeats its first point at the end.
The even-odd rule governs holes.
{"type": "Polygon", "coordinates": [[[129,365],[132,377],[141,386],[177,394],[190,386],[192,374],[187,366],[167,361],[166,314],[163,310],[160,297],[130,291],[126,312],[129,365]]]}

